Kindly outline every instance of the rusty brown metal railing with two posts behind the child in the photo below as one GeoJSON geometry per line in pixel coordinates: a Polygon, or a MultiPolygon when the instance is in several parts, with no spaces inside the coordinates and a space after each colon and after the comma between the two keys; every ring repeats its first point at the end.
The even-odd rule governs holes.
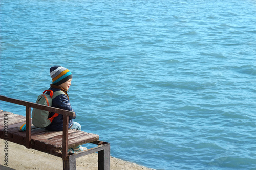
{"type": "Polygon", "coordinates": [[[69,116],[74,117],[75,113],[68,110],[63,110],[51,106],[45,106],[37,103],[27,102],[23,100],[8,98],[0,95],[0,100],[10,102],[18,105],[26,106],[26,147],[31,148],[31,107],[46,110],[63,115],[63,138],[62,138],[62,159],[66,160],[68,156],[68,130],[69,130],[69,116]]]}

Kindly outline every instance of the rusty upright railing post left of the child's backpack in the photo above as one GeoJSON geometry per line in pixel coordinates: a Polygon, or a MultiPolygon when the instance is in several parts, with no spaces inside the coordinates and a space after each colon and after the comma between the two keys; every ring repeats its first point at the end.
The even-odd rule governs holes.
{"type": "Polygon", "coordinates": [[[31,148],[31,108],[26,106],[26,147],[31,148]]]}

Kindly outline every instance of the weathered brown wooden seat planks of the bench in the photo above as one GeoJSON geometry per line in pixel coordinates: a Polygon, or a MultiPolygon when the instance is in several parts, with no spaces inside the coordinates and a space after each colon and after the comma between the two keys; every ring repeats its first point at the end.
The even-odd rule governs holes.
{"type": "MultiPolygon", "coordinates": [[[[19,127],[25,123],[25,117],[10,112],[0,112],[0,121],[4,121],[4,114],[8,114],[8,140],[26,145],[26,132],[19,127]]],[[[0,127],[0,137],[4,136],[4,126],[0,127]]],[[[99,135],[71,129],[68,132],[68,148],[99,140],[99,135]]],[[[40,150],[61,150],[62,131],[48,131],[31,125],[31,144],[40,150]]],[[[34,148],[32,147],[32,148],[34,148]]]]}

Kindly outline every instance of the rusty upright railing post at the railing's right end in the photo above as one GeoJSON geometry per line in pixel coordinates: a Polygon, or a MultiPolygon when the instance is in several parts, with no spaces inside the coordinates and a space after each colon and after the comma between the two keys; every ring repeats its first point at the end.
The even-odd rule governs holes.
{"type": "Polygon", "coordinates": [[[62,160],[66,160],[68,156],[68,130],[69,116],[63,115],[62,160]]]}

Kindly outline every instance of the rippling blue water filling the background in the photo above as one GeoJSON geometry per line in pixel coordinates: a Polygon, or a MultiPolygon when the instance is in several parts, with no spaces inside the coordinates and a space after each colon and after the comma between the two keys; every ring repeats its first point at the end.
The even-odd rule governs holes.
{"type": "Polygon", "coordinates": [[[76,121],[112,156],[155,169],[255,169],[256,1],[0,4],[1,95],[35,102],[61,65],[73,74],[76,121]]]}

